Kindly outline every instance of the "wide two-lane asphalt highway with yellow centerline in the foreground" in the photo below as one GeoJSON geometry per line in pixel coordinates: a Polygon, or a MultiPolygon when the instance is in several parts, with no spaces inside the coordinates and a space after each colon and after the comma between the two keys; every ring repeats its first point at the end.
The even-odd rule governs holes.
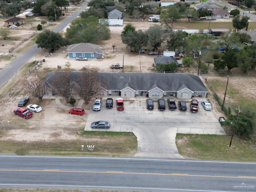
{"type": "Polygon", "coordinates": [[[134,157],[0,156],[0,188],[255,191],[256,163],[134,157]],[[248,187],[253,186],[253,187],[248,187]]]}

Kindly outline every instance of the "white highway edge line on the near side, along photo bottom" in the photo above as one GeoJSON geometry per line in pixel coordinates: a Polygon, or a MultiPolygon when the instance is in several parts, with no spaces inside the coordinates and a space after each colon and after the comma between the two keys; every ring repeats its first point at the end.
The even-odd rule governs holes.
{"type": "Polygon", "coordinates": [[[111,187],[111,186],[87,186],[87,185],[41,185],[41,184],[0,184],[1,186],[42,186],[42,187],[91,187],[91,188],[121,188],[121,189],[150,189],[150,190],[175,190],[175,191],[202,191],[202,192],[236,192],[236,191],[212,191],[195,189],[166,189],[166,188],[147,188],[147,187],[111,187]]]}

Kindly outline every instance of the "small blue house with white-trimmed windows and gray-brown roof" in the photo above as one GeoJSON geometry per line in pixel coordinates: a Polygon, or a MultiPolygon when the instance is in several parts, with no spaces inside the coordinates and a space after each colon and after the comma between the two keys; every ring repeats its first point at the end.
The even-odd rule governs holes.
{"type": "Polygon", "coordinates": [[[103,51],[99,45],[91,43],[77,43],[68,46],[69,58],[86,57],[89,59],[102,59],[103,51]]]}

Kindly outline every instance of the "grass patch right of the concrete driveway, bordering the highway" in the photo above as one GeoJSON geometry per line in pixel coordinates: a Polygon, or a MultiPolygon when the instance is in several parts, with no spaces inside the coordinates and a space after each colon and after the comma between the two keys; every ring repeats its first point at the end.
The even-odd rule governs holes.
{"type": "Polygon", "coordinates": [[[254,142],[234,137],[231,148],[231,136],[177,134],[176,145],[179,154],[184,157],[211,159],[220,161],[256,161],[254,142]]]}

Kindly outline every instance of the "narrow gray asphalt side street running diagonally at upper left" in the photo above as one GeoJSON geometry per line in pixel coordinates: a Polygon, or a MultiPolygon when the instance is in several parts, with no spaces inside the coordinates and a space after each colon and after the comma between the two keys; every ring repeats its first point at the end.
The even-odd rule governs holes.
{"type": "MultiPolygon", "coordinates": [[[[79,7],[71,16],[64,19],[60,24],[56,25],[52,31],[61,32],[79,13],[87,7],[89,1],[79,7]]],[[[41,50],[37,44],[29,47],[23,54],[18,55],[12,62],[0,70],[0,87],[3,86],[10,78],[12,78],[31,58],[41,50]]]]}

